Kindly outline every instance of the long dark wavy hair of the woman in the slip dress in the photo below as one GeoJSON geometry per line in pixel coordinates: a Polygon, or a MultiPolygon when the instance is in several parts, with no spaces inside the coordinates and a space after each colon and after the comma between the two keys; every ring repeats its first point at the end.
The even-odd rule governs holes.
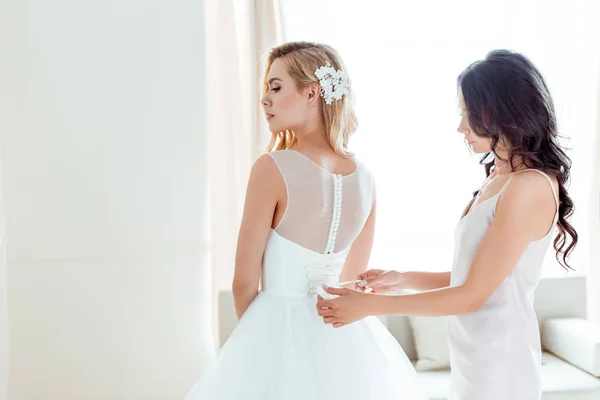
{"type": "Polygon", "coordinates": [[[558,180],[558,235],[554,240],[556,259],[565,269],[577,244],[577,231],[567,221],[574,210],[565,185],[571,159],[559,144],[554,103],[544,77],[522,54],[494,50],[469,65],[458,77],[469,124],[477,136],[491,139],[492,152],[481,159],[489,176],[498,143],[507,144],[508,160],[515,168],[519,160],[558,180]]]}

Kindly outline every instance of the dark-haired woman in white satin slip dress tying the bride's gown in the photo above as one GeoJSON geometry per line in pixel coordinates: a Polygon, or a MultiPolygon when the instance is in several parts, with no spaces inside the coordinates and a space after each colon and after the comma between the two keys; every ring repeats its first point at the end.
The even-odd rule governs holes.
{"type": "Polygon", "coordinates": [[[544,78],[523,55],[496,50],[469,65],[458,99],[458,131],[484,154],[487,178],[458,222],[452,272],[370,270],[360,279],[372,293],[326,288],[339,297],[319,299],[317,310],[334,327],[369,315],[450,316],[451,400],[540,399],[533,293],[555,230],[563,267],[577,244],[571,160],[544,78]],[[405,288],[422,293],[382,295],[405,288]]]}

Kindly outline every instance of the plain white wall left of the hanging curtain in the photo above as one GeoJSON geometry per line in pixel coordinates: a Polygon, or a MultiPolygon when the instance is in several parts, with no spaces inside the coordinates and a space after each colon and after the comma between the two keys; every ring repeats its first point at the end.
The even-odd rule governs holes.
{"type": "Polygon", "coordinates": [[[214,343],[203,3],[3,14],[10,399],[179,399],[214,343]]]}

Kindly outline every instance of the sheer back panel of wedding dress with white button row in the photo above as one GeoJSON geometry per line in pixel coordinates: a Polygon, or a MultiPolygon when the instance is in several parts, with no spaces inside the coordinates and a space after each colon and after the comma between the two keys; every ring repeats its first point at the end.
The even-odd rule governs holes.
{"type": "Polygon", "coordinates": [[[357,162],[353,173],[342,176],[294,150],[269,155],[279,167],[288,197],[275,231],[318,253],[350,247],[373,206],[374,183],[369,171],[357,162]]]}

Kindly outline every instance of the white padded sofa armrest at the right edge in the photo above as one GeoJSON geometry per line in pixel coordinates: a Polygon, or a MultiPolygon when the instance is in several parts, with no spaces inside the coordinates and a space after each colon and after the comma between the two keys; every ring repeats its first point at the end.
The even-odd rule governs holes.
{"type": "Polygon", "coordinates": [[[550,318],[542,324],[542,347],[600,377],[600,327],[582,318],[550,318]]]}

